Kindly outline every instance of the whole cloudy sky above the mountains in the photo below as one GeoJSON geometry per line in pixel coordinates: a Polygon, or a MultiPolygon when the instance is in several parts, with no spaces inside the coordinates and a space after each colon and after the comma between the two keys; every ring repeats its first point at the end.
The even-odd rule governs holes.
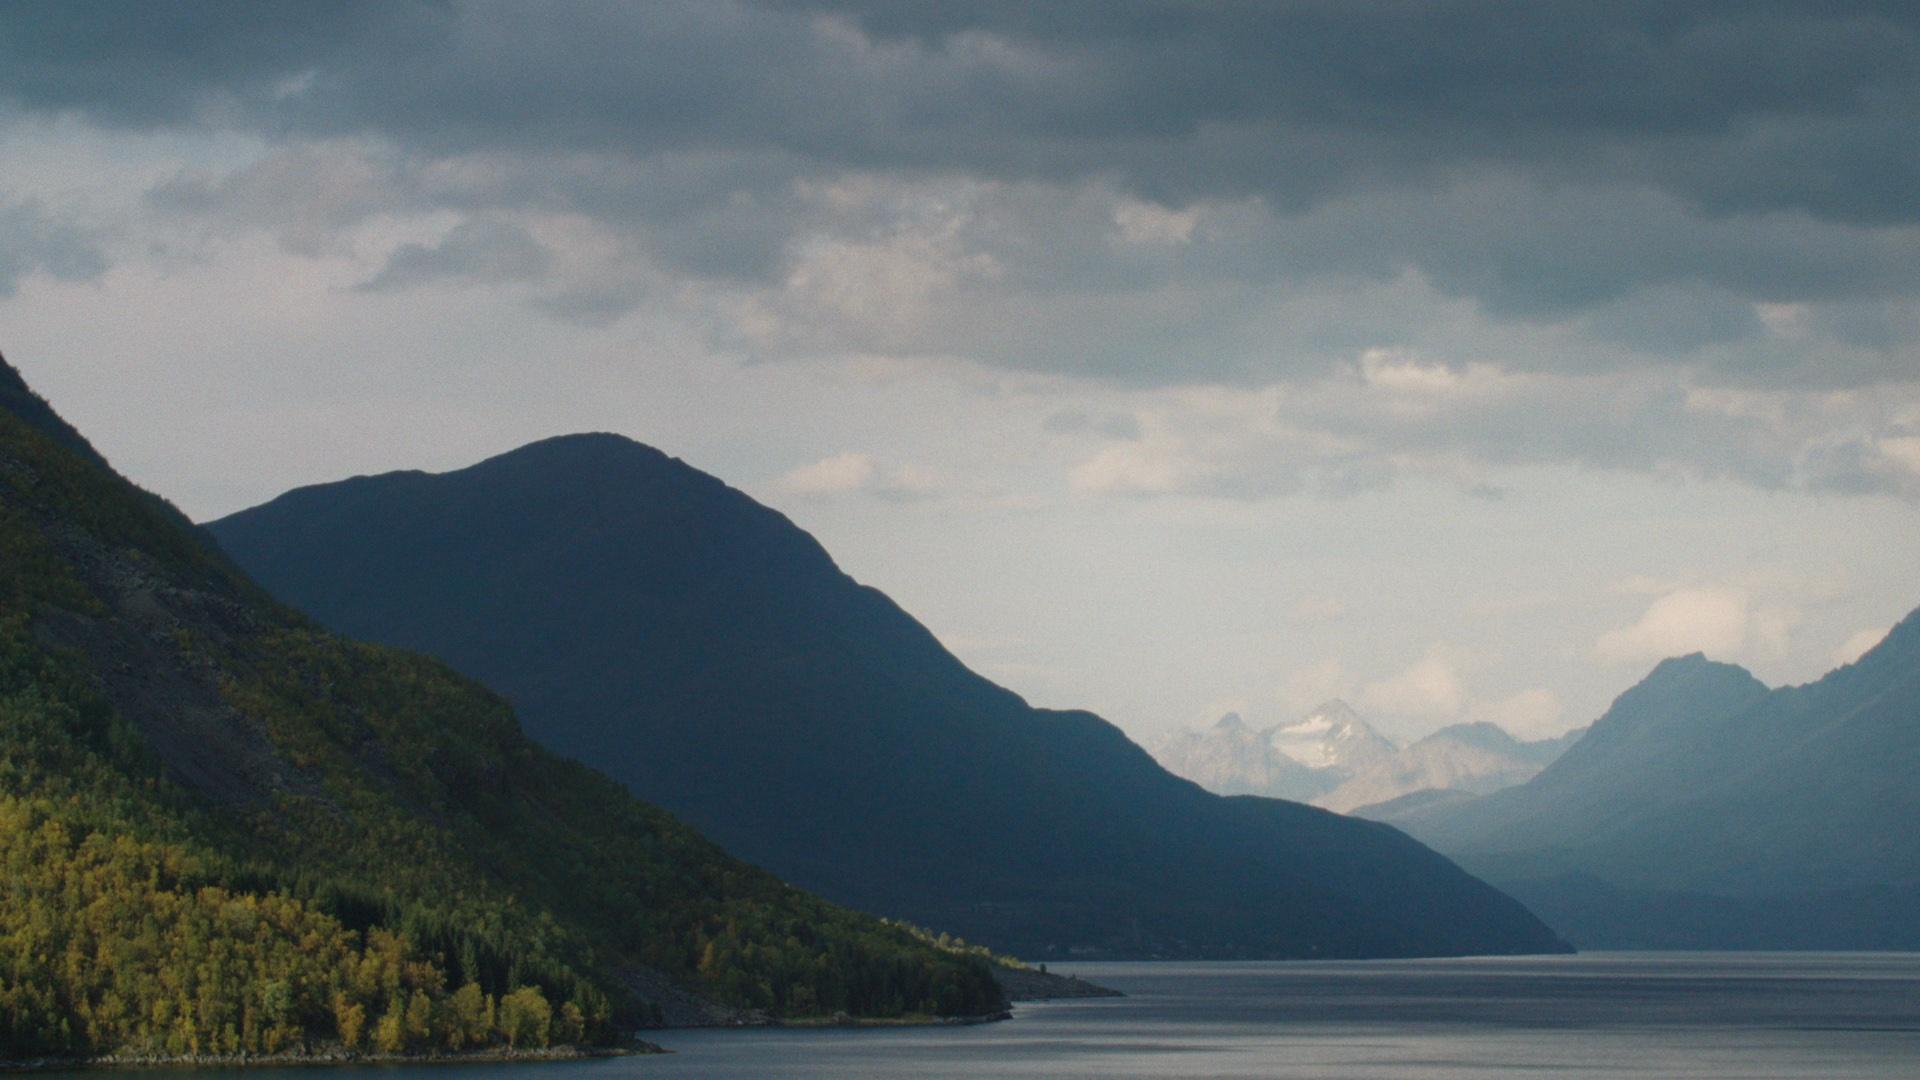
{"type": "Polygon", "coordinates": [[[1152,744],[1920,605],[1912,4],[0,6],[0,352],[196,519],[614,430],[1152,744]]]}

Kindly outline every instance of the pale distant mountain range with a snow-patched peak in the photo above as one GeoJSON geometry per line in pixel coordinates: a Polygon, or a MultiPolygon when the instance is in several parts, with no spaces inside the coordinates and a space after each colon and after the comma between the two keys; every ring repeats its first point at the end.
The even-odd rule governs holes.
{"type": "Polygon", "coordinates": [[[1521,742],[1496,724],[1476,723],[1440,728],[1400,748],[1334,700],[1302,721],[1258,730],[1238,713],[1227,713],[1212,728],[1175,732],[1154,757],[1210,792],[1298,799],[1346,813],[1417,792],[1511,788],[1540,773],[1578,734],[1521,742]]]}

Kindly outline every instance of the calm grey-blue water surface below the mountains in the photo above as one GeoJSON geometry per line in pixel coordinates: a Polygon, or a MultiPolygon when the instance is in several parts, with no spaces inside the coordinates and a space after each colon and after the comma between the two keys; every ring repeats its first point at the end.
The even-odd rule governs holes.
{"type": "MultiPolygon", "coordinates": [[[[326,1076],[1920,1078],[1916,953],[1068,967],[1129,997],[975,1028],[659,1032],[676,1053],[326,1076]]],[[[319,1076],[246,1080],[269,1074],[319,1076]]]]}

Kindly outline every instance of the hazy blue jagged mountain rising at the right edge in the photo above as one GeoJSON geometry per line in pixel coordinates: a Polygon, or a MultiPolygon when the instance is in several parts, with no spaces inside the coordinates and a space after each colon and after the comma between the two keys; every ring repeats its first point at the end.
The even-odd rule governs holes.
{"type": "Polygon", "coordinates": [[[1920,613],[1768,690],[1663,661],[1530,782],[1386,817],[1596,947],[1920,945],[1920,613]]]}

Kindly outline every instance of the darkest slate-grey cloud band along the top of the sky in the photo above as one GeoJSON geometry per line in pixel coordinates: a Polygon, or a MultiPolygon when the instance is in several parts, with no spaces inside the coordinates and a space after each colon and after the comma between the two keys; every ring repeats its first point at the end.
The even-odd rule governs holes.
{"type": "Polygon", "coordinates": [[[1910,4],[10,4],[6,94],[444,152],[778,150],[1308,204],[1505,163],[1910,221],[1910,4]],[[862,33],[854,33],[860,27],[862,33]]]}

